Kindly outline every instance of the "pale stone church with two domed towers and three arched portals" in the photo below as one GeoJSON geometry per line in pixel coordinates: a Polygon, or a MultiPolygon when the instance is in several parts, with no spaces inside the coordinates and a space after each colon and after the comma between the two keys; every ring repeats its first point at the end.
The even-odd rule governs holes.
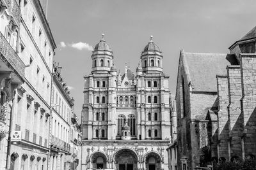
{"type": "Polygon", "coordinates": [[[140,59],[136,73],[121,74],[104,34],[95,46],[84,76],[82,169],[168,169],[169,76],[152,37],[140,59]]]}

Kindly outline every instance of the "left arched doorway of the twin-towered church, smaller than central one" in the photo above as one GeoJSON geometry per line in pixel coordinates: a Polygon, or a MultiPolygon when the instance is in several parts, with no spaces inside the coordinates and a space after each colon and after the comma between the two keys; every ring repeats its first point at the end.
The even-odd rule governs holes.
{"type": "Polygon", "coordinates": [[[106,169],[107,157],[104,153],[93,153],[90,161],[92,162],[92,167],[90,167],[90,169],[106,169]]]}

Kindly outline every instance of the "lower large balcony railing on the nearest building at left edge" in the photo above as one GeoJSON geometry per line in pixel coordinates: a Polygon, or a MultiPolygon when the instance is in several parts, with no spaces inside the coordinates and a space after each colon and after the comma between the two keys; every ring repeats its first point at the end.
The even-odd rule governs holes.
{"type": "Polygon", "coordinates": [[[20,57],[17,55],[12,46],[4,38],[4,35],[0,32],[0,58],[6,62],[6,65],[13,70],[17,76],[24,79],[25,75],[25,64],[22,62],[20,57]]]}

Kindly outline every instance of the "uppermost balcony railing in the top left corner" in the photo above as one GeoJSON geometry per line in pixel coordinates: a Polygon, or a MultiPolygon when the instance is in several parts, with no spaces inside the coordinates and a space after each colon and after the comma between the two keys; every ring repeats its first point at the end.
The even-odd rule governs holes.
{"type": "Polygon", "coordinates": [[[20,25],[20,8],[16,0],[0,0],[3,6],[6,6],[8,13],[10,13],[15,20],[16,25],[20,25]]]}

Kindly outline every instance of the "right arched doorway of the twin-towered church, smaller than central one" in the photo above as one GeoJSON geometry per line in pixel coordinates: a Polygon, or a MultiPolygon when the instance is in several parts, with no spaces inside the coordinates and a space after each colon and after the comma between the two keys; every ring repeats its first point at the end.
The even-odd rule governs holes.
{"type": "Polygon", "coordinates": [[[146,153],[144,157],[147,170],[161,169],[161,157],[156,152],[146,153]]]}

